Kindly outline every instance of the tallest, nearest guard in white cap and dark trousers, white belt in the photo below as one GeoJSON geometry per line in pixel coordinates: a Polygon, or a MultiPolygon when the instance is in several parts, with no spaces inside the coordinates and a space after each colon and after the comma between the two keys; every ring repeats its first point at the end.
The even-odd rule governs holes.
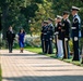
{"type": "Polygon", "coordinates": [[[81,18],[78,15],[79,8],[72,6],[71,13],[73,15],[72,21],[72,41],[73,41],[73,60],[80,60],[80,37],[81,37],[81,18]]]}

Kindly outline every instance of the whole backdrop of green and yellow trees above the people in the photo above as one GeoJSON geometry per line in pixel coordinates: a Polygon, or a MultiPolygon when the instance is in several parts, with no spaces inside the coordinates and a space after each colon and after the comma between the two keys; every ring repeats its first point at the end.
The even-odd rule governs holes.
{"type": "Polygon", "coordinates": [[[44,19],[70,12],[71,6],[81,9],[79,12],[83,23],[83,0],[0,0],[0,14],[3,35],[10,25],[17,32],[23,27],[27,33],[39,33],[44,19]]]}

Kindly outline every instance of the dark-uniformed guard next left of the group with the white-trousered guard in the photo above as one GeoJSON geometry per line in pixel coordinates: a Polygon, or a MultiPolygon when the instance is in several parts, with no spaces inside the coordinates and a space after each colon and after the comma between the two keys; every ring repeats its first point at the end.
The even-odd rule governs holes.
{"type": "Polygon", "coordinates": [[[48,18],[48,54],[52,54],[52,38],[54,38],[54,25],[52,19],[48,18]]]}

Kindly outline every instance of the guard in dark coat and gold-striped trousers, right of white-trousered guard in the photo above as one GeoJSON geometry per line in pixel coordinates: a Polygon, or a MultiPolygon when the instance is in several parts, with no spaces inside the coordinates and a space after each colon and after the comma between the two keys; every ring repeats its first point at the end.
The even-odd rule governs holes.
{"type": "Polygon", "coordinates": [[[69,40],[70,40],[70,26],[69,12],[64,11],[62,14],[62,44],[63,44],[63,58],[70,58],[69,40]]]}

